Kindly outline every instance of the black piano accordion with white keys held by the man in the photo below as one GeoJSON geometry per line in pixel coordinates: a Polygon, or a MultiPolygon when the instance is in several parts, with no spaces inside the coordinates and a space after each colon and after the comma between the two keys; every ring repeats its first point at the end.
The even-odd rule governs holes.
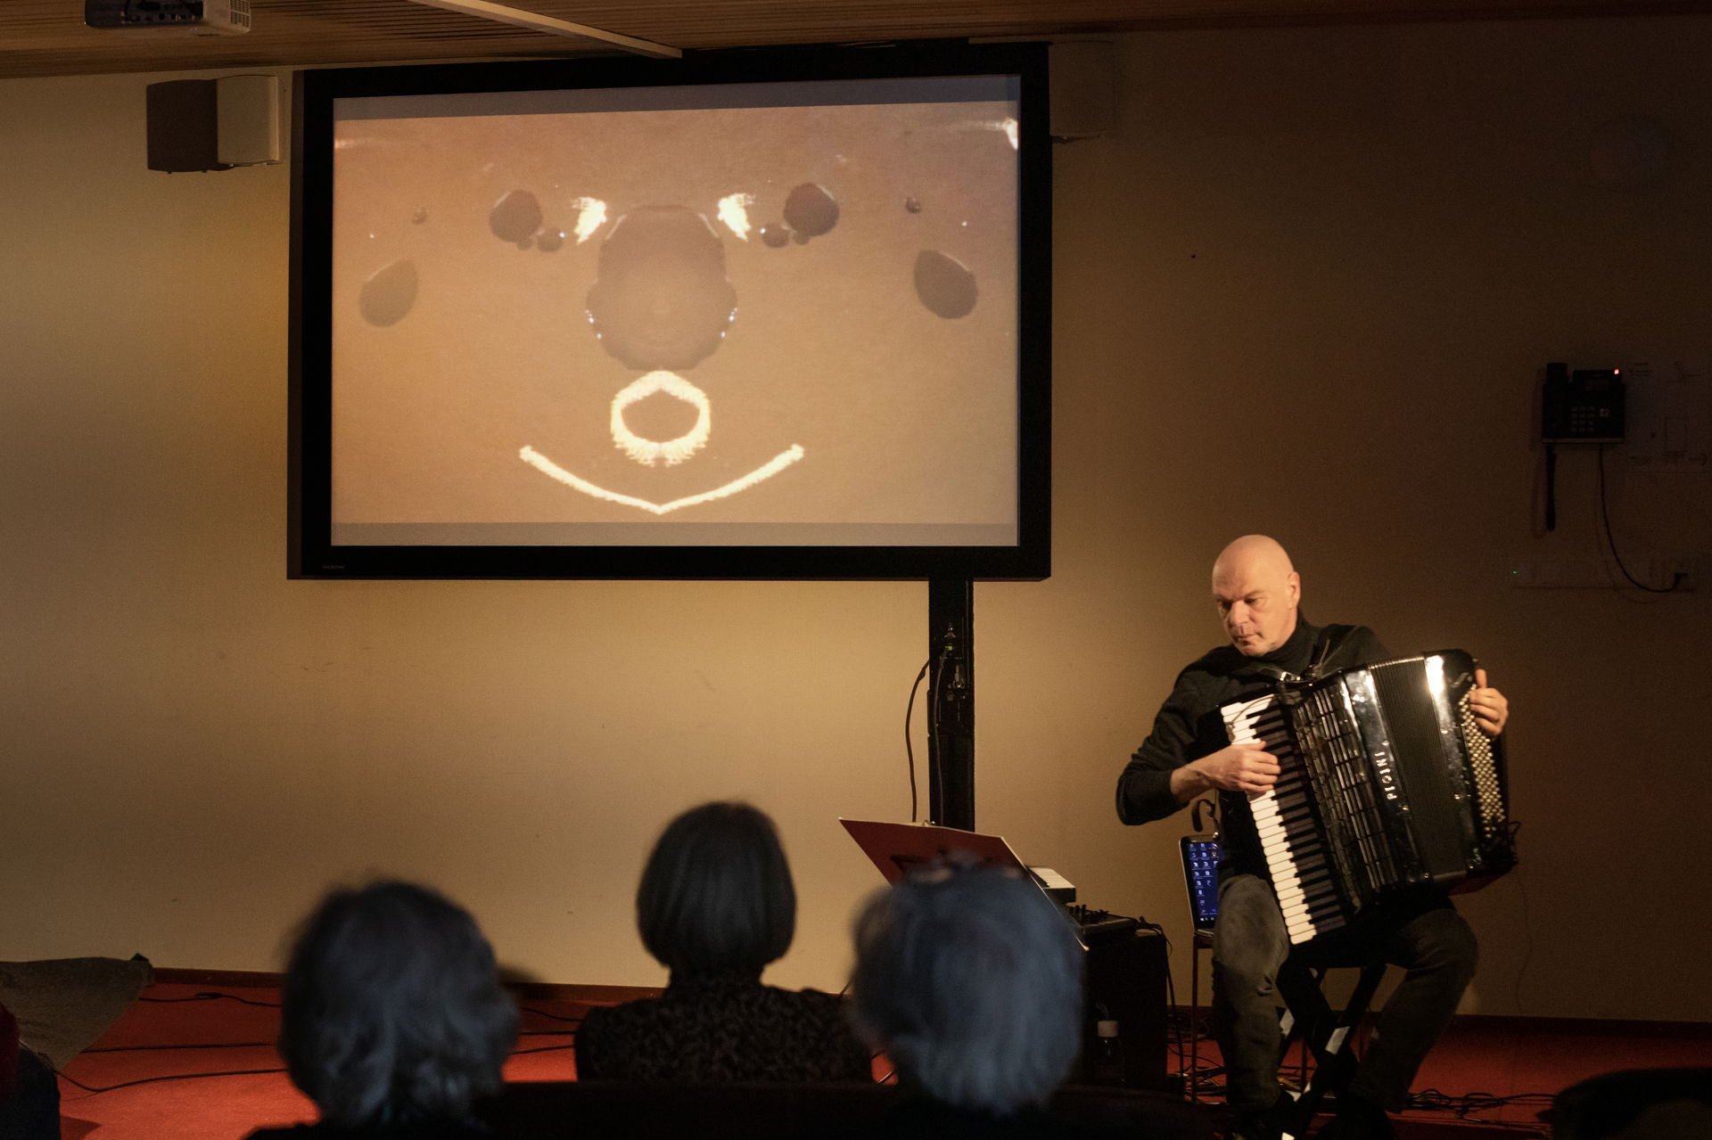
{"type": "Polygon", "coordinates": [[[1291,943],[1395,890],[1477,890],[1515,866],[1501,750],[1474,722],[1474,659],[1445,650],[1281,680],[1221,709],[1279,781],[1250,796],[1291,943]]]}

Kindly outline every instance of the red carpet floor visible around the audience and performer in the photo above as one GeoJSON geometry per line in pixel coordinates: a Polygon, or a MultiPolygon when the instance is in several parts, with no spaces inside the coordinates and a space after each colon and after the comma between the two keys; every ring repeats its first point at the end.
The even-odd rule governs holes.
{"type": "MultiPolygon", "coordinates": [[[[60,1078],[65,1140],[238,1140],[259,1125],[313,1119],[313,1106],[291,1087],[272,1046],[277,1001],[279,991],[267,988],[151,986],[60,1078]],[[221,996],[199,996],[207,993],[221,996]]],[[[570,1030],[586,1008],[563,1000],[527,1001],[507,1080],[575,1078],[570,1030]]],[[[1217,1060],[1217,1049],[1205,1044],[1202,1065],[1217,1060]]],[[[1608,1030],[1577,1022],[1517,1029],[1476,1022],[1452,1027],[1421,1070],[1416,1090],[1546,1097],[1596,1073],[1681,1065],[1712,1066],[1712,1027],[1608,1030]]],[[[1412,1111],[1400,1121],[1399,1137],[1537,1137],[1541,1107],[1543,1099],[1493,1104],[1472,1113],[1474,1123],[1448,1111],[1412,1111]]]]}

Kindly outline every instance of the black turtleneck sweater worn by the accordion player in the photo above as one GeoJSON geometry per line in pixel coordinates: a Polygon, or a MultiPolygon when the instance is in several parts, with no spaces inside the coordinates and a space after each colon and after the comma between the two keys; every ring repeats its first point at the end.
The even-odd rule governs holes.
{"type": "MultiPolygon", "coordinates": [[[[1296,630],[1270,654],[1245,657],[1234,645],[1219,645],[1190,662],[1178,673],[1176,686],[1159,707],[1154,731],[1118,777],[1118,818],[1125,823],[1150,823],[1178,811],[1183,805],[1171,794],[1171,772],[1231,743],[1219,709],[1267,692],[1274,681],[1270,669],[1301,674],[1320,661],[1318,671],[1323,674],[1385,661],[1387,656],[1378,637],[1364,625],[1320,628],[1308,625],[1298,611],[1296,630]]],[[[1248,798],[1241,793],[1219,793],[1219,799],[1224,847],[1221,871],[1265,875],[1248,798]]]]}

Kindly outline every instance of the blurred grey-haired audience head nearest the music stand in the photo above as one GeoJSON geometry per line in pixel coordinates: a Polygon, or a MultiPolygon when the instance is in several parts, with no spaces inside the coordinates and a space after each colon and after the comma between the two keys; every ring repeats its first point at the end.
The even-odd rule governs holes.
{"type": "Polygon", "coordinates": [[[1032,883],[945,871],[866,904],[851,995],[906,1084],[1003,1116],[1044,1104],[1075,1061],[1082,948],[1032,883]]]}

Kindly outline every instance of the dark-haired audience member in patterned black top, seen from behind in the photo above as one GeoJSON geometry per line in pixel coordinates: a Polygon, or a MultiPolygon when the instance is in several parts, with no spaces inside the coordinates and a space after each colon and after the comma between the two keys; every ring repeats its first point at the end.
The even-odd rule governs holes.
{"type": "Polygon", "coordinates": [[[709,803],[673,820],[642,873],[637,926],[671,979],[659,998],[589,1010],[580,1078],[871,1080],[841,998],[760,981],[796,933],[791,868],[762,811],[709,803]]]}

